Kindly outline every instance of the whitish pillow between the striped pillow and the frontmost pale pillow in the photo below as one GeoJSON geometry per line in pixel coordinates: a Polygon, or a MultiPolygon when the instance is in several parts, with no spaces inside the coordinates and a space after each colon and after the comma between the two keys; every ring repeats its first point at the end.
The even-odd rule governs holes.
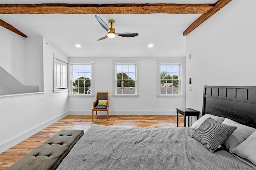
{"type": "Polygon", "coordinates": [[[254,131],[256,131],[256,129],[253,127],[242,125],[228,118],[226,118],[222,123],[237,127],[237,129],[234,130],[230,137],[228,137],[228,139],[224,142],[224,146],[228,150],[232,150],[234,147],[246,140],[252,133],[254,133],[254,131]]]}

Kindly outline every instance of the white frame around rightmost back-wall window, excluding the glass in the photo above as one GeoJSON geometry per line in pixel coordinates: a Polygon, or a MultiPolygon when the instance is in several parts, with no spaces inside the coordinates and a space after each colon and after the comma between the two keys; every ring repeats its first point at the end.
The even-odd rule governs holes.
{"type": "Polygon", "coordinates": [[[184,98],[185,97],[185,68],[186,57],[157,61],[157,97],[158,98],[184,98]],[[179,94],[160,94],[160,65],[179,65],[179,94]]]}

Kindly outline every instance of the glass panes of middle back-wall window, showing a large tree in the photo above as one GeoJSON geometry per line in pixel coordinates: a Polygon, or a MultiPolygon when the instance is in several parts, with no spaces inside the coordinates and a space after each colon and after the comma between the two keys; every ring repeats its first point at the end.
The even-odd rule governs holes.
{"type": "Polygon", "coordinates": [[[135,94],[135,64],[116,65],[116,94],[135,94]]]}

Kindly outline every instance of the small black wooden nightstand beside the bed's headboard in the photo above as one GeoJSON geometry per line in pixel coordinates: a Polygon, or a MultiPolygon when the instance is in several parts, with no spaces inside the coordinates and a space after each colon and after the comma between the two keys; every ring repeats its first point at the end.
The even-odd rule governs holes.
{"type": "Polygon", "coordinates": [[[178,113],[184,115],[184,127],[186,127],[186,116],[188,116],[188,127],[189,127],[189,117],[196,116],[197,120],[200,114],[200,111],[190,109],[190,108],[176,108],[177,109],[177,127],[179,127],[179,116],[178,113]]]}

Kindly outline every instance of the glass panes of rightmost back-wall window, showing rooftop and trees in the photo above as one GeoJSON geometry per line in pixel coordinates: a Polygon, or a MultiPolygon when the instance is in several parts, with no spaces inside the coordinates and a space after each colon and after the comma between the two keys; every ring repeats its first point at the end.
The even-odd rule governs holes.
{"type": "Polygon", "coordinates": [[[179,65],[160,65],[160,94],[179,94],[179,65]]]}

